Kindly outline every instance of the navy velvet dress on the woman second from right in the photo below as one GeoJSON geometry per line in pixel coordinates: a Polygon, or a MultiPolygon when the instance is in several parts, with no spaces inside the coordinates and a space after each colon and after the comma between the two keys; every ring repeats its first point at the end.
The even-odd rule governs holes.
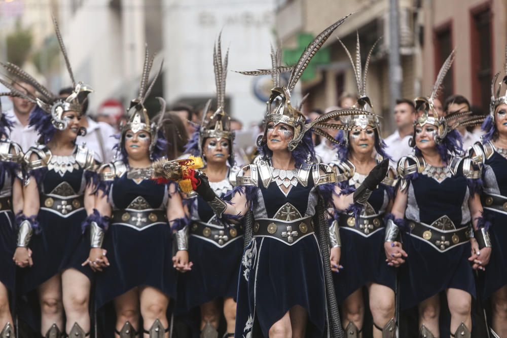
{"type": "MultiPolygon", "coordinates": [[[[422,159],[420,161],[422,163],[422,159]]],[[[400,160],[399,172],[407,165],[415,165],[413,157],[400,160]],[[406,165],[403,165],[407,161],[406,165]]],[[[470,227],[468,199],[470,191],[467,178],[463,175],[463,161],[452,172],[448,167],[425,165],[424,170],[402,177],[408,180],[408,204],[405,212],[407,228],[402,231],[403,249],[408,257],[399,269],[401,308],[411,308],[433,295],[448,288],[461,289],[476,295],[474,273],[468,262],[470,242],[468,238],[430,242],[436,233],[426,239],[411,232],[413,221],[427,224],[429,232],[441,229],[436,224],[454,229],[470,227]],[[439,179],[431,172],[440,172],[439,179]]],[[[449,229],[449,228],[446,228],[449,229]]],[[[469,230],[466,229],[469,234],[469,230]]],[[[448,233],[453,230],[448,230],[448,233]]]]}

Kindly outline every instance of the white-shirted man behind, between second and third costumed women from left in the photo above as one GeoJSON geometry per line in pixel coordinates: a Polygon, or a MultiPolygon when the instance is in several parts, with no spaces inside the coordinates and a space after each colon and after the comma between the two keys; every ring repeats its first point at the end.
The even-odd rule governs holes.
{"type": "MultiPolygon", "coordinates": [[[[66,98],[73,92],[73,88],[66,87],[62,88],[58,95],[66,98]]],[[[79,121],[80,127],[86,128],[85,136],[78,136],[76,143],[86,143],[88,149],[91,149],[95,154],[95,160],[99,163],[110,163],[113,162],[115,156],[114,146],[118,143],[118,140],[114,137],[116,134],[115,128],[105,122],[95,122],[88,115],[88,100],[83,102],[82,118],[79,121]]]]}

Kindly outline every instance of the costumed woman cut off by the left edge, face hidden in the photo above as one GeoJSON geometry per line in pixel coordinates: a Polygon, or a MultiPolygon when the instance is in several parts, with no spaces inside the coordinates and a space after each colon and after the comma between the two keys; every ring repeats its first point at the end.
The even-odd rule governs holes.
{"type": "MultiPolygon", "coordinates": [[[[12,93],[0,93],[0,96],[12,93]]],[[[19,144],[8,138],[12,123],[2,112],[0,104],[0,338],[14,337],[14,322],[11,316],[16,284],[14,262],[16,234],[14,214],[23,210],[23,185],[21,165],[23,153],[19,144]]],[[[29,258],[28,258],[29,260],[29,258]]]]}

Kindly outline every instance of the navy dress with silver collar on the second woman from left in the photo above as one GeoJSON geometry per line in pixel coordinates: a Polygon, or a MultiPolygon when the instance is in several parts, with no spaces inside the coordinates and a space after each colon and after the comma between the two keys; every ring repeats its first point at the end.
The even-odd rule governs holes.
{"type": "MultiPolygon", "coordinates": [[[[42,154],[39,151],[50,154],[45,146],[33,147],[26,158],[42,154]]],[[[48,160],[48,166],[30,172],[30,179],[37,179],[41,194],[37,215],[41,232],[33,234],[29,243],[33,266],[20,270],[22,294],[66,269],[75,269],[90,280],[93,276],[89,266],[81,266],[90,252],[90,240],[83,235],[81,223],[87,216],[84,194],[91,176],[85,173],[93,169],[93,152],[79,146],[74,155],[51,159],[64,164],[59,166],[48,160]]]]}

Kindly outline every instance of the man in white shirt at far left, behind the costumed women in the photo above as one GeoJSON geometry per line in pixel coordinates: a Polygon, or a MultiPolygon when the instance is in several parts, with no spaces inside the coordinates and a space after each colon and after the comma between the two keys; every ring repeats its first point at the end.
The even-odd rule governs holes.
{"type": "MultiPolygon", "coordinates": [[[[27,83],[15,83],[14,87],[19,91],[35,95],[35,88],[27,83]]],[[[18,143],[23,152],[26,152],[39,139],[39,134],[35,128],[28,126],[28,118],[30,112],[35,108],[35,103],[21,97],[10,97],[10,99],[12,101],[12,108],[4,113],[6,118],[13,124],[9,138],[18,143]]]]}

